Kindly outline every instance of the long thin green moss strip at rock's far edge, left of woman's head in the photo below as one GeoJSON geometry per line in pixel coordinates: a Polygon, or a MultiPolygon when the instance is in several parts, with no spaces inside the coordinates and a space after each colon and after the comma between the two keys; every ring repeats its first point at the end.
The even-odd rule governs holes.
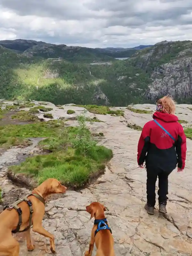
{"type": "Polygon", "coordinates": [[[110,110],[109,107],[106,106],[97,106],[97,105],[76,105],[77,107],[86,108],[89,112],[93,114],[100,115],[116,115],[116,116],[124,116],[123,110],[110,110]]]}

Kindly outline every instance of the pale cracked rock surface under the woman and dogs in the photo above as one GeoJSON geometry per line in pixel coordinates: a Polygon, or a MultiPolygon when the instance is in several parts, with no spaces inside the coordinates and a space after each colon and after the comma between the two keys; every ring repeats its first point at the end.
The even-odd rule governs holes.
{"type": "MultiPolygon", "coordinates": [[[[150,104],[136,107],[154,109],[150,104]]],[[[179,105],[176,112],[182,112],[183,116],[179,118],[190,123],[192,111],[187,107],[192,108],[191,105],[179,105]]],[[[168,214],[159,215],[156,210],[150,216],[144,210],[146,170],[137,168],[140,132],[128,128],[126,121],[143,126],[152,119],[151,114],[137,114],[126,109],[124,118],[96,116],[104,123],[94,122],[90,128],[93,132],[104,133],[105,137],[99,143],[111,148],[114,157],[105,174],[88,188],[80,192],[67,191],[64,197],[46,204],[43,226],[55,236],[56,255],[84,255],[94,221],[90,220],[85,206],[94,201],[107,207],[106,218],[113,232],[117,256],[192,255],[192,141],[187,139],[185,171],[177,173],[175,170],[169,177],[168,214]]],[[[76,122],[68,121],[68,124],[76,122]]],[[[2,156],[0,164],[1,160],[2,156]]],[[[49,239],[32,231],[31,234],[36,246],[33,252],[27,251],[24,233],[16,235],[20,241],[20,256],[50,255],[49,239]]],[[[94,248],[92,255],[95,254],[94,248]]]]}

